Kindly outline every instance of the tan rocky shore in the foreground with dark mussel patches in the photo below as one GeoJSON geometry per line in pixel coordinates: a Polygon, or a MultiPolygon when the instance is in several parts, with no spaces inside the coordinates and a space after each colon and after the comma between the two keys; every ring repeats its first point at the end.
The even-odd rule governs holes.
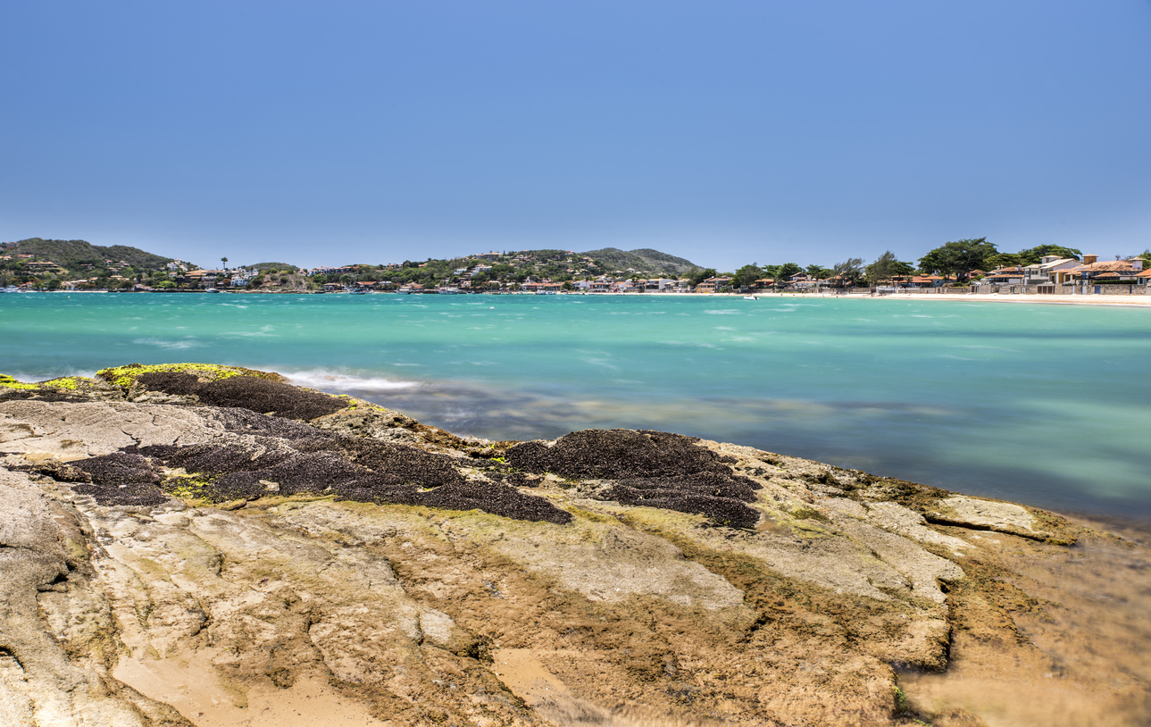
{"type": "Polygon", "coordinates": [[[0,724],[1145,725],[1144,536],[274,373],[0,377],[0,724]]]}

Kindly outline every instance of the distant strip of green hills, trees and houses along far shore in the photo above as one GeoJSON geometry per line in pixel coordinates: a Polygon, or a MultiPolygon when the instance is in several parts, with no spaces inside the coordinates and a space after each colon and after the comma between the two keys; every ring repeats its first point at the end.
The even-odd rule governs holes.
{"type": "Polygon", "coordinates": [[[207,268],[124,245],[43,240],[0,243],[6,290],[257,293],[813,293],[970,288],[984,293],[1145,293],[1151,250],[1100,260],[1054,244],[1001,252],[985,237],[947,242],[915,263],[885,251],[831,267],[750,263],[733,272],[658,250],[524,250],[391,264],[300,268],[258,263],[207,268]],[[991,286],[991,288],[986,288],[991,286]],[[1104,290],[1099,286],[1126,286],[1104,290]],[[986,288],[986,289],[984,289],[986,288]],[[1090,288],[1090,289],[1088,289],[1090,288]]]}

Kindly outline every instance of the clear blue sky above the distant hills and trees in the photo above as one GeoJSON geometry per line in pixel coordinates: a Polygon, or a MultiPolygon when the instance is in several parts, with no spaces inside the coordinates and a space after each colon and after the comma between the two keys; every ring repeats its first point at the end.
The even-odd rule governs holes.
{"type": "Polygon", "coordinates": [[[9,2],[0,240],[211,264],[1151,245],[1151,3],[9,2]]]}

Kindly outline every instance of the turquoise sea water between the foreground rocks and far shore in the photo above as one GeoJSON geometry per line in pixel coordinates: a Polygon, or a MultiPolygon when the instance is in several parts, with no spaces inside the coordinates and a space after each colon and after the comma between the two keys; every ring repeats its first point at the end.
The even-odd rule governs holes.
{"type": "Polygon", "coordinates": [[[0,295],[0,372],[279,371],[460,434],[681,432],[1151,518],[1151,310],[694,296],[0,295]]]}

